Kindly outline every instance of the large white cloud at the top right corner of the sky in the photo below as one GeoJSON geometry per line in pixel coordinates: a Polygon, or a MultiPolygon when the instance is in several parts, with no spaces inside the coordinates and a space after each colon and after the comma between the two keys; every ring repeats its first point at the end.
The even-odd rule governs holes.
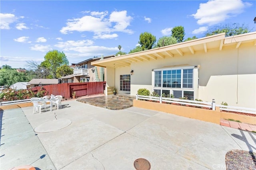
{"type": "Polygon", "coordinates": [[[201,3],[196,14],[192,14],[199,25],[214,25],[228,18],[241,14],[244,9],[252,4],[242,0],[209,0],[201,3]]]}

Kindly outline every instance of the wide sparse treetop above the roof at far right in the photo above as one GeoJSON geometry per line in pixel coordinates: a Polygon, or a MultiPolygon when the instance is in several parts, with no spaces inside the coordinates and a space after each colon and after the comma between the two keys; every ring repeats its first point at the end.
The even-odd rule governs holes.
{"type": "Polygon", "coordinates": [[[212,27],[208,30],[208,32],[205,34],[205,36],[215,35],[218,33],[226,33],[226,37],[230,37],[233,35],[239,35],[243,33],[250,32],[248,25],[240,25],[238,23],[226,24],[226,25],[218,25],[215,27],[212,27]]]}

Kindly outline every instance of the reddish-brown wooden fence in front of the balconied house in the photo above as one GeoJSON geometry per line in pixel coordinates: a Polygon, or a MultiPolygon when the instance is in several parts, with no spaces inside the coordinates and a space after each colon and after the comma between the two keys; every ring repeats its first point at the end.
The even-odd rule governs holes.
{"type": "Polygon", "coordinates": [[[46,95],[61,95],[64,98],[72,98],[72,92],[76,92],[76,97],[103,94],[106,82],[85,82],[85,83],[61,83],[45,86],[36,86],[31,88],[34,93],[37,93],[40,88],[46,91],[46,95]]]}

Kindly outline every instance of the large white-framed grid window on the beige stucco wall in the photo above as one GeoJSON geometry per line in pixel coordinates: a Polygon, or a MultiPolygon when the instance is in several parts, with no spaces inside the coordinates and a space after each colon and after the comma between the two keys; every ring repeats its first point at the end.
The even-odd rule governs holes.
{"type": "Polygon", "coordinates": [[[198,82],[194,80],[198,79],[198,71],[194,76],[194,66],[155,69],[153,73],[154,92],[159,96],[171,97],[172,94],[174,98],[194,100],[194,83],[198,82]]]}

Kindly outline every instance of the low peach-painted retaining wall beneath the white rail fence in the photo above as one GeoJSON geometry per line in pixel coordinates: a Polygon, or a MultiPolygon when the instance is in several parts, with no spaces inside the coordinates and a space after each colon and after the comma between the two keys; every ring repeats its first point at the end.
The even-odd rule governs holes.
{"type": "Polygon", "coordinates": [[[148,102],[142,100],[133,100],[133,106],[162,111],[165,113],[172,113],[183,117],[216,123],[218,125],[220,124],[221,118],[240,120],[243,123],[250,124],[255,124],[256,122],[256,117],[220,112],[219,107],[216,107],[216,110],[208,110],[195,107],[177,106],[172,104],[160,104],[157,102],[148,102]]]}

